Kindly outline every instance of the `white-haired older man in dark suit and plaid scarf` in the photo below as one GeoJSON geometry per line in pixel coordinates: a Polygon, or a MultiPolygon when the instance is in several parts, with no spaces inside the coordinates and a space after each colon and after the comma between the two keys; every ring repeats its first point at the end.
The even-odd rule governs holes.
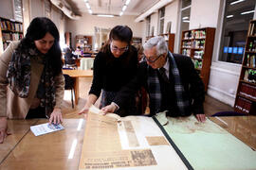
{"type": "Polygon", "coordinates": [[[164,110],[174,117],[193,113],[199,122],[204,122],[204,84],[192,59],[171,53],[160,36],[151,38],[143,47],[145,61],[140,63],[137,76],[119,91],[111,105],[101,110],[118,110],[143,86],[150,96],[151,115],[164,110]]]}

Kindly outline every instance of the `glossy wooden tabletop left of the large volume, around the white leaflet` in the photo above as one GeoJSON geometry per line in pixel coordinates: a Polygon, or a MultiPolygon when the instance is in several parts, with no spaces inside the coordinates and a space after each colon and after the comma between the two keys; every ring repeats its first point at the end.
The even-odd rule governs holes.
{"type": "Polygon", "coordinates": [[[13,127],[10,126],[10,131],[17,132],[18,130],[20,133],[9,135],[5,143],[1,144],[0,169],[78,169],[85,127],[84,120],[64,119],[62,124],[64,130],[37,137],[29,130],[28,126],[35,121],[36,124],[47,122],[46,119],[28,122],[9,120],[9,124],[13,124],[13,127]],[[15,136],[18,138],[15,139],[15,136]],[[3,150],[9,152],[3,152],[3,150]]]}

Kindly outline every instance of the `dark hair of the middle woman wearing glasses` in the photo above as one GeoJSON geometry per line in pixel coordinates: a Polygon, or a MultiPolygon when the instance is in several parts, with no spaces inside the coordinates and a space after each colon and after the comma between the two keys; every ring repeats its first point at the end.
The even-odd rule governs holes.
{"type": "MultiPolygon", "coordinates": [[[[127,57],[125,59],[123,59],[123,64],[126,65],[129,63],[129,60],[136,55],[134,53],[134,48],[131,45],[132,42],[132,38],[133,38],[133,31],[129,26],[115,26],[111,29],[110,33],[109,33],[109,39],[108,41],[101,47],[100,51],[102,53],[105,54],[111,54],[111,50],[110,50],[110,42],[112,40],[115,41],[120,41],[120,42],[127,42],[128,44],[128,51],[126,51],[125,53],[127,53],[127,57]]],[[[109,56],[108,55],[108,56],[109,56]]],[[[107,58],[108,62],[112,61],[112,58],[107,58]]]]}

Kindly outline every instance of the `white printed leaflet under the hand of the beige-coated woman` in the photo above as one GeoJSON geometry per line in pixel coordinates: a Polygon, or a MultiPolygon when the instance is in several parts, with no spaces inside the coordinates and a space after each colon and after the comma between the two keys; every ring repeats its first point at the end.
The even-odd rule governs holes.
{"type": "Polygon", "coordinates": [[[35,136],[51,133],[54,131],[62,130],[64,127],[61,124],[40,124],[36,126],[30,127],[31,131],[34,133],[35,136]]]}

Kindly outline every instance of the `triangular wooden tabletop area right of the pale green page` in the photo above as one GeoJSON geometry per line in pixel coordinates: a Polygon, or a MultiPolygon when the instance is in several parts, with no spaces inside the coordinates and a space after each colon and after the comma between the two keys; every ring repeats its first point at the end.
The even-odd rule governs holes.
{"type": "Polygon", "coordinates": [[[256,150],[256,116],[221,116],[210,120],[256,150]]]}

